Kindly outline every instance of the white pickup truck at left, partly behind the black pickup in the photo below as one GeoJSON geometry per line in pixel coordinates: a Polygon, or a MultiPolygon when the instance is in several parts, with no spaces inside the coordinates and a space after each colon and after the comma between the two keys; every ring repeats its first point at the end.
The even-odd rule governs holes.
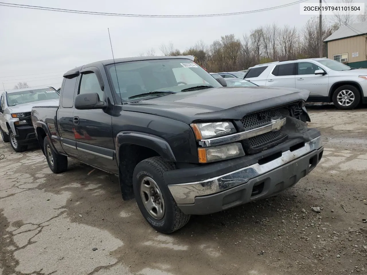
{"type": "Polygon", "coordinates": [[[0,132],[16,152],[36,143],[30,111],[33,106],[58,106],[59,93],[52,87],[25,88],[0,93],[0,132]]]}

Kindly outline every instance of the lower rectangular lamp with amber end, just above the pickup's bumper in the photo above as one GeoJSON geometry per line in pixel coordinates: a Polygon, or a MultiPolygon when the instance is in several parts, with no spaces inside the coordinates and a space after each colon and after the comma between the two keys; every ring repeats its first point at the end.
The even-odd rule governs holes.
{"type": "Polygon", "coordinates": [[[241,157],[245,153],[241,143],[226,144],[224,146],[198,148],[199,163],[208,163],[213,161],[220,161],[235,157],[241,157]]]}

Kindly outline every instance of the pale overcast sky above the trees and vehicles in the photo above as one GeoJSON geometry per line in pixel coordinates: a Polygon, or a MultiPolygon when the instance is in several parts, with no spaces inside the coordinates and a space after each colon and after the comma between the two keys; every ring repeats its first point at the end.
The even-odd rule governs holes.
{"type": "MultiPolygon", "coordinates": [[[[258,10],[295,0],[4,0],[83,11],[130,14],[217,14],[258,10]]],[[[306,3],[318,2],[315,0],[306,3]]],[[[336,1],[328,1],[336,2],[336,1]]],[[[366,0],[358,0],[364,2],[366,0]]],[[[285,24],[301,28],[311,15],[299,15],[299,4],[252,14],[207,18],[131,18],[71,14],[0,6],[0,90],[18,81],[29,86],[60,87],[73,67],[112,58],[138,56],[172,41],[181,51],[203,40],[211,44],[225,34],[242,37],[256,27],[285,24]],[[32,75],[30,75],[32,74],[32,75]],[[26,75],[26,76],[24,76],[26,75]],[[10,77],[9,77],[10,76],[10,77]]]]}

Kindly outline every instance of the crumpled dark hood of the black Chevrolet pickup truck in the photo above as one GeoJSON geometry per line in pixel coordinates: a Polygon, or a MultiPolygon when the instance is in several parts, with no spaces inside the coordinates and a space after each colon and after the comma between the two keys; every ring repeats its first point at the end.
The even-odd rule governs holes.
{"type": "Polygon", "coordinates": [[[190,123],[195,120],[240,120],[260,110],[307,100],[309,91],[274,87],[220,87],[179,92],[124,104],[123,110],[155,114],[190,123]]]}

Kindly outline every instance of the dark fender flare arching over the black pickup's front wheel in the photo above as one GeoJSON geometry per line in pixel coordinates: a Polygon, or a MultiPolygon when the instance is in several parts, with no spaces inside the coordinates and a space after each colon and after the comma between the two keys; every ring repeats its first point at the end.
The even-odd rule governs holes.
{"type": "Polygon", "coordinates": [[[121,144],[135,144],[144,147],[148,147],[156,151],[161,157],[176,162],[176,158],[172,152],[172,149],[168,142],[161,137],[133,131],[123,131],[116,135],[116,159],[119,163],[119,151],[121,144]]]}

